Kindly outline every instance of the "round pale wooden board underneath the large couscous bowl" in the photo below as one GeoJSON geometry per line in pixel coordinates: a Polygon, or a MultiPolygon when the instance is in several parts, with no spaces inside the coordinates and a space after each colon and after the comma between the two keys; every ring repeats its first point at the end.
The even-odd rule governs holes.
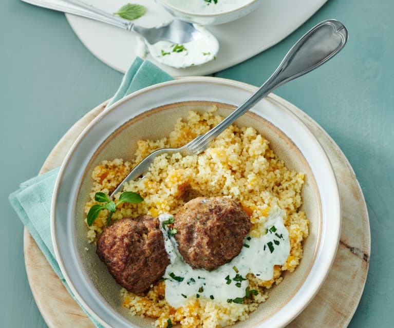
{"type": "MultiPolygon", "coordinates": [[[[334,168],[342,202],[341,240],[331,271],[312,302],[288,326],[346,327],[359,304],[368,272],[370,230],[365,200],[349,162],[328,134],[294,105],[272,97],[298,115],[320,141],[334,168]]],[[[104,110],[106,103],[92,109],[68,130],[49,154],[40,174],[62,164],[74,140],[104,110]]],[[[24,254],[30,288],[47,325],[50,328],[94,328],[26,228],[24,254]]]]}

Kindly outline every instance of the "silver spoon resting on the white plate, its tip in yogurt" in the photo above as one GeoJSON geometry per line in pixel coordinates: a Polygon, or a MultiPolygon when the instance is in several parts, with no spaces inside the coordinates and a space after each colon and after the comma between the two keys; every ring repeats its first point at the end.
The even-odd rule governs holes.
{"type": "Polygon", "coordinates": [[[193,24],[179,20],[153,28],[137,26],[134,23],[114,16],[103,10],[87,5],[79,0],[22,0],[32,5],[58,10],[69,14],[74,14],[91,20],[111,24],[128,31],[134,31],[142,35],[149,44],[158,41],[169,41],[172,43],[187,43],[199,40],[202,35],[195,29],[193,24]]]}

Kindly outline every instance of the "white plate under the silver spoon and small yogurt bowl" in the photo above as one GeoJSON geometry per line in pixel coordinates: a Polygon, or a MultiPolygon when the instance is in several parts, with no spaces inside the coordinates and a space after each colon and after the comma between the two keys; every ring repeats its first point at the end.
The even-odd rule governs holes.
{"type": "MultiPolygon", "coordinates": [[[[175,69],[158,64],[172,76],[206,75],[236,65],[264,51],[301,26],[327,0],[266,0],[251,14],[237,21],[209,27],[218,38],[220,50],[216,61],[186,69],[175,69]]],[[[84,0],[108,12],[115,12],[125,0],[84,0]]],[[[146,14],[136,24],[152,27],[172,16],[154,0],[133,0],[147,7],[146,14]]],[[[82,43],[110,67],[125,72],[138,53],[138,38],[135,34],[119,28],[66,14],[72,29],[82,43]]],[[[279,63],[278,63],[279,64],[279,63]]]]}

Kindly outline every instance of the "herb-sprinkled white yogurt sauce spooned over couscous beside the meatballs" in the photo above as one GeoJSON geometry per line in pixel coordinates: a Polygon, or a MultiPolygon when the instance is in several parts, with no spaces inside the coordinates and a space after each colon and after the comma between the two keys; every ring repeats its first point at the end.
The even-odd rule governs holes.
{"type": "MultiPolygon", "coordinates": [[[[274,265],[284,264],[290,254],[289,233],[283,223],[285,215],[285,211],[280,208],[272,209],[265,225],[259,228],[261,237],[251,238],[248,235],[244,245],[249,247],[242,247],[241,252],[231,262],[213,271],[193,269],[185,263],[178,252],[175,238],[168,236],[165,224],[160,224],[165,250],[171,262],[164,274],[167,302],[177,308],[184,305],[187,298],[198,297],[197,295],[227,302],[229,299],[245,296],[248,280],[239,277],[246,278],[248,273],[253,273],[261,280],[272,279],[274,265]]],[[[159,220],[163,222],[172,217],[170,214],[161,214],[159,220]]]]}

